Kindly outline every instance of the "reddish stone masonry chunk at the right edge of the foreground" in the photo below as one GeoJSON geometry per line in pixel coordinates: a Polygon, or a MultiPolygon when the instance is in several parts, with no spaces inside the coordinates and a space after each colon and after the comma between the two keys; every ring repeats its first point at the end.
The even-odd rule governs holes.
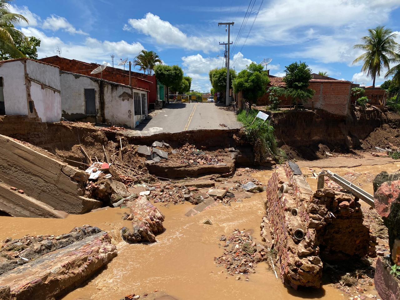
{"type": "Polygon", "coordinates": [[[395,300],[400,295],[400,277],[391,269],[400,269],[400,170],[381,172],[374,179],[374,200],[378,214],[388,228],[390,255],[376,262],[375,286],[382,300],[395,300]]]}

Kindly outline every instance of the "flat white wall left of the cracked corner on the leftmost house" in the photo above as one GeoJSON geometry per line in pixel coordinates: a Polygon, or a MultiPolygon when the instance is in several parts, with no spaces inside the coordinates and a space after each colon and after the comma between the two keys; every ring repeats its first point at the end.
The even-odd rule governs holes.
{"type": "Polygon", "coordinates": [[[28,101],[26,100],[24,62],[17,60],[1,64],[0,76],[3,77],[4,83],[6,114],[27,116],[28,101]]]}

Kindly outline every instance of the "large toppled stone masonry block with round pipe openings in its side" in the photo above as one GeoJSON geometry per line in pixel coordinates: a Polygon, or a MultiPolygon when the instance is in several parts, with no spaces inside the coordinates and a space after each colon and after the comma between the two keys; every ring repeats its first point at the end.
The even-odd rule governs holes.
{"type": "Polygon", "coordinates": [[[352,195],[328,188],[312,192],[290,162],[274,172],[266,192],[261,235],[268,239],[269,227],[284,284],[319,288],[324,261],[376,256],[376,237],[363,224],[361,205],[352,195]]]}

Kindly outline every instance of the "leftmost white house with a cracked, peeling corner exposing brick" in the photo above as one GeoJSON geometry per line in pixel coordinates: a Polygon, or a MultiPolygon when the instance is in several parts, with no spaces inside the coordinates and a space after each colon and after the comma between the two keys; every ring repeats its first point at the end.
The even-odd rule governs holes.
{"type": "Polygon", "coordinates": [[[60,70],[28,58],[0,61],[0,114],[61,119],[60,70]]]}

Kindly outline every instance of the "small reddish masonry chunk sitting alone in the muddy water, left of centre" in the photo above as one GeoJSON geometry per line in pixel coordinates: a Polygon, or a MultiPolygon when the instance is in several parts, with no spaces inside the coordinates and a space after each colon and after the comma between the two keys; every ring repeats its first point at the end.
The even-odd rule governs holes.
{"type": "Polygon", "coordinates": [[[130,214],[123,218],[132,221],[132,229],[123,227],[121,229],[122,238],[131,243],[156,241],[156,234],[164,232],[162,225],[164,215],[158,208],[152,205],[146,196],[140,196],[134,201],[128,202],[130,214]]]}

